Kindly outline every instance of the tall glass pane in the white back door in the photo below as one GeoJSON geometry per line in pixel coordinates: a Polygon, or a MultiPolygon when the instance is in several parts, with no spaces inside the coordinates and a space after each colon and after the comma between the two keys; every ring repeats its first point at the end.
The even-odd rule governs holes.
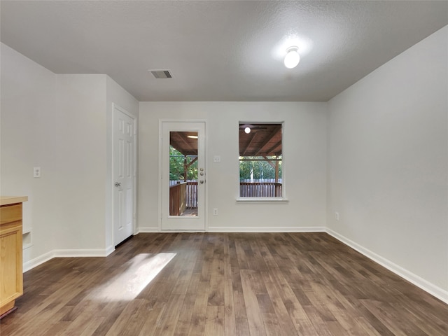
{"type": "Polygon", "coordinates": [[[169,216],[197,216],[197,132],[169,132],[169,216]]]}

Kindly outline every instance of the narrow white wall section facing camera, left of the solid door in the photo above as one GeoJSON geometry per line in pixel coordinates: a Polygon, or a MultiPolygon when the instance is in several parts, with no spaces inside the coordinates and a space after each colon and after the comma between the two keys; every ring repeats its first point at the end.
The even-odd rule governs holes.
{"type": "Polygon", "coordinates": [[[57,248],[104,249],[106,76],[57,75],[55,95],[45,151],[51,157],[47,188],[55,204],[57,248]]]}

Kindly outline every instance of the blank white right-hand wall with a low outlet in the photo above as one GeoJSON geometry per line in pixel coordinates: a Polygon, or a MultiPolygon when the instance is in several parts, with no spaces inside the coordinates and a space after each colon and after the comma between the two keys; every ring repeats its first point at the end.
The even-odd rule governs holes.
{"type": "Polygon", "coordinates": [[[447,41],[444,27],[330,100],[327,217],[337,237],[445,301],[447,41]]]}

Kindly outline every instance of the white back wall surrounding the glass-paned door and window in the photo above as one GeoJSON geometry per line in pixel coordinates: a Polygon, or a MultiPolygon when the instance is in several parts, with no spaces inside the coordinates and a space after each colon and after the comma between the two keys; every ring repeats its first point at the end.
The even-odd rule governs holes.
{"type": "Polygon", "coordinates": [[[139,229],[158,230],[159,120],[207,122],[208,230],[323,230],[326,197],[326,103],[141,102],[139,229]],[[237,203],[239,121],[285,122],[286,203],[237,203]],[[213,162],[214,155],[221,163],[213,162]],[[218,208],[218,216],[212,209],[218,208]]]}

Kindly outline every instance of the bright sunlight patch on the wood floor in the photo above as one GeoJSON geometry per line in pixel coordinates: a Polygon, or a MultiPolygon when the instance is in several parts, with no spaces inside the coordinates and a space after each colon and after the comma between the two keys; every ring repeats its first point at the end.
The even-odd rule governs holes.
{"type": "Polygon", "coordinates": [[[122,274],[95,288],[94,297],[98,300],[111,301],[134,300],[175,255],[176,253],[136,255],[126,263],[128,267],[122,274]]]}

